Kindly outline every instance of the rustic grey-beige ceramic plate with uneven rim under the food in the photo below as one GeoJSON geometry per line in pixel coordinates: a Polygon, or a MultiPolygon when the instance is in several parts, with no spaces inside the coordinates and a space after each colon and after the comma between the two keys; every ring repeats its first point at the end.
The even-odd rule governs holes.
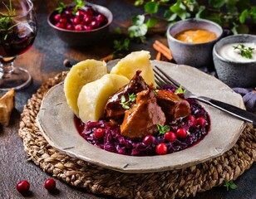
{"type": "MultiPolygon", "coordinates": [[[[152,66],[159,66],[194,94],[219,99],[244,109],[241,96],[211,75],[190,66],[178,66],[162,61],[152,61],[152,66]]],[[[162,156],[125,156],[87,143],[76,131],[74,115],[66,104],[63,83],[52,87],[42,100],[37,124],[52,147],[71,157],[119,172],[161,172],[203,163],[223,154],[236,143],[244,129],[244,122],[219,109],[206,104],[203,106],[211,119],[209,133],[191,148],[162,156]]]]}

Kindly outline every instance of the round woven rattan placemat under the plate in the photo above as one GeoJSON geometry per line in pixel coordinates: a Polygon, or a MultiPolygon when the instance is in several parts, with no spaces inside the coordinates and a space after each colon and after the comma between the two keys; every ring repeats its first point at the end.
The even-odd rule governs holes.
{"type": "Polygon", "coordinates": [[[152,173],[122,173],[71,158],[52,148],[37,128],[42,98],[64,80],[62,72],[37,90],[24,106],[19,135],[29,160],[75,187],[93,194],[125,198],[185,198],[235,180],[256,161],[256,129],[247,125],[238,142],[224,155],[180,170],[152,173]]]}

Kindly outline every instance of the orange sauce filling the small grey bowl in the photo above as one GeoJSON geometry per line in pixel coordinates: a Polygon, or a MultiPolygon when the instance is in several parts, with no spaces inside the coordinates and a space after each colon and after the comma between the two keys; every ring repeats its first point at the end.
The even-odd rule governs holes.
{"type": "Polygon", "coordinates": [[[210,32],[204,29],[185,30],[175,35],[175,39],[187,43],[205,43],[213,41],[216,38],[217,36],[214,32],[210,32]]]}

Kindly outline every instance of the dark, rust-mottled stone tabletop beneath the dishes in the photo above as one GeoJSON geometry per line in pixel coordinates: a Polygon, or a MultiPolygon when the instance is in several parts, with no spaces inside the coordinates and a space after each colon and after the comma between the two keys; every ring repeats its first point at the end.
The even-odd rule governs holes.
{"type": "MultiPolygon", "coordinates": [[[[68,1],[64,1],[68,2],[68,1]]],[[[71,1],[69,1],[71,2],[71,1]]],[[[141,12],[133,7],[134,1],[98,0],[92,1],[109,7],[114,15],[115,27],[127,27],[132,15],[141,12]]],[[[57,1],[37,0],[34,1],[38,17],[38,34],[32,49],[17,57],[16,65],[22,66],[32,74],[32,84],[16,94],[16,109],[12,112],[11,123],[7,128],[0,127],[0,198],[21,198],[17,192],[16,184],[26,179],[31,183],[31,192],[28,198],[104,198],[94,196],[76,187],[70,187],[64,182],[57,180],[57,192],[49,193],[43,187],[44,181],[51,177],[41,168],[32,162],[27,162],[27,155],[24,152],[22,138],[18,136],[19,119],[24,104],[31,98],[37,89],[48,78],[57,75],[62,70],[67,70],[62,62],[65,59],[71,63],[82,61],[87,58],[99,59],[111,53],[112,41],[106,41],[101,45],[93,47],[71,48],[62,42],[47,24],[47,14],[57,5],[57,1]]],[[[162,32],[163,33],[163,32],[162,32]]],[[[156,52],[152,48],[155,39],[166,44],[164,34],[151,35],[146,44],[133,44],[131,51],[145,49],[150,51],[152,58],[156,52]]],[[[256,165],[245,172],[235,181],[238,185],[236,190],[226,191],[225,187],[215,187],[209,192],[199,193],[195,198],[208,199],[252,199],[256,198],[256,165]]]]}

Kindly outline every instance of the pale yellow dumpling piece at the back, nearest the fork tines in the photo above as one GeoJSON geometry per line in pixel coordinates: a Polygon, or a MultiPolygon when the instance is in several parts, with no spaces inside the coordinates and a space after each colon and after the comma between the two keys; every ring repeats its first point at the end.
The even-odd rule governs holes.
{"type": "Polygon", "coordinates": [[[111,74],[126,76],[129,80],[135,75],[137,70],[141,70],[140,75],[145,83],[155,85],[155,76],[150,64],[149,51],[134,51],[119,61],[111,70],[111,74]]]}

